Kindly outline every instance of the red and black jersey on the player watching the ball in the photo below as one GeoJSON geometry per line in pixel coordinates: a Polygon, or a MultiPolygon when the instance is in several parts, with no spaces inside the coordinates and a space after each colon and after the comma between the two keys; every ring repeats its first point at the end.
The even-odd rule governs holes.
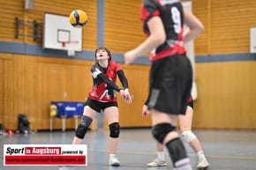
{"type": "Polygon", "coordinates": [[[99,63],[95,63],[91,68],[94,86],[89,92],[89,98],[102,102],[117,101],[116,91],[120,91],[116,85],[119,70],[121,65],[114,61],[109,61],[107,68],[102,68],[99,63]]]}

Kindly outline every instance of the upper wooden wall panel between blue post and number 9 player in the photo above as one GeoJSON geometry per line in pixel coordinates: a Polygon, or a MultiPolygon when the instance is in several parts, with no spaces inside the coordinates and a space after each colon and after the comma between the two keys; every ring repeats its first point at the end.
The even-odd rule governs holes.
{"type": "Polygon", "coordinates": [[[122,53],[145,40],[140,21],[140,3],[107,0],[105,9],[105,44],[110,49],[122,53]]]}

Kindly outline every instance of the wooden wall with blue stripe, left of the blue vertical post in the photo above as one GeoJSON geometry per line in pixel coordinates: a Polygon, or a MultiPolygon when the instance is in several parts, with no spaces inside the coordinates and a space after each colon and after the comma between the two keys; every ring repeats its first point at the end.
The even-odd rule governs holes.
{"type": "MultiPolygon", "coordinates": [[[[31,11],[24,10],[21,0],[0,1],[0,6],[4,14],[0,21],[0,123],[8,129],[17,129],[18,114],[26,113],[32,129],[49,129],[50,101],[86,100],[92,86],[91,81],[86,81],[91,78],[88,73],[92,61],[72,59],[60,50],[41,49],[41,39],[34,41],[31,36],[34,33],[31,23],[42,24],[45,12],[68,16],[79,6],[89,15],[83,28],[83,49],[94,49],[97,47],[97,2],[36,0],[31,11]],[[15,38],[16,17],[25,22],[19,26],[18,39],[15,38]]],[[[39,36],[42,36],[42,27],[39,36]]],[[[92,53],[83,55],[90,57],[92,53]]],[[[54,120],[54,128],[61,129],[61,120],[54,120]]],[[[74,128],[72,119],[67,120],[66,128],[74,128]]]]}

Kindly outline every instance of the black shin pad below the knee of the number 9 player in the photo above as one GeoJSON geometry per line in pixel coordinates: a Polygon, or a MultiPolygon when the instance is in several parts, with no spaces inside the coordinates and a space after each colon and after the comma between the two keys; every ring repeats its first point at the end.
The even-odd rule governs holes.
{"type": "Polygon", "coordinates": [[[170,140],[165,145],[168,149],[169,155],[174,166],[177,165],[177,162],[179,160],[185,160],[188,158],[184,148],[184,144],[181,142],[179,137],[170,140]]]}

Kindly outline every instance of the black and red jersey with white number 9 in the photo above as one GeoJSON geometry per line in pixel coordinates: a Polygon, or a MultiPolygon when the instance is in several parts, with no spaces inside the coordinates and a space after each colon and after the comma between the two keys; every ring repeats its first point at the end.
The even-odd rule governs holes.
{"type": "Polygon", "coordinates": [[[184,54],[184,13],[179,0],[144,0],[141,5],[141,19],[144,33],[149,35],[147,21],[154,16],[162,18],[166,33],[166,41],[154,49],[150,60],[167,57],[169,55],[184,54]]]}

